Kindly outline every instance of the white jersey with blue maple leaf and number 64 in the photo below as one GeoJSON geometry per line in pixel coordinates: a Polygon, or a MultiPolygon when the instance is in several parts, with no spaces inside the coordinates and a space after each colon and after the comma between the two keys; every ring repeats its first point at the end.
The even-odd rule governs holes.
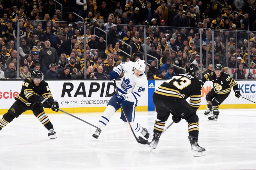
{"type": "Polygon", "coordinates": [[[147,87],[147,77],[143,73],[140,76],[136,76],[133,73],[135,63],[132,61],[121,63],[113,69],[119,75],[123,72],[124,76],[121,82],[117,84],[118,91],[121,94],[127,95],[127,101],[137,102],[141,94],[145,92],[147,87]]]}

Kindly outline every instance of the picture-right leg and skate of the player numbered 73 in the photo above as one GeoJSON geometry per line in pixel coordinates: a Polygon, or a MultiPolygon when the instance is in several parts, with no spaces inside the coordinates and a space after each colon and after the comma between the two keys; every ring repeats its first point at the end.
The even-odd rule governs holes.
{"type": "Polygon", "coordinates": [[[188,122],[188,140],[194,156],[204,156],[205,149],[198,144],[199,123],[196,111],[189,114],[185,120],[188,122]]]}

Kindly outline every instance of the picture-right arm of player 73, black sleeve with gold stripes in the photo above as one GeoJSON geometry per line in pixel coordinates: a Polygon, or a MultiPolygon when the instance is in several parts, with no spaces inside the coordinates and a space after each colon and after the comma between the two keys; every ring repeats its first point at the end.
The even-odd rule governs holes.
{"type": "Polygon", "coordinates": [[[202,85],[200,83],[195,83],[192,85],[192,92],[189,97],[189,105],[194,110],[197,110],[201,105],[202,98],[202,85]]]}

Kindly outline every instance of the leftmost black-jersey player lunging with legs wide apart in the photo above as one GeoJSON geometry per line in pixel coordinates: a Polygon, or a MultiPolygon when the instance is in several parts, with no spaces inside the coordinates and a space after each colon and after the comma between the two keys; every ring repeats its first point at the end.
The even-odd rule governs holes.
{"type": "Polygon", "coordinates": [[[36,118],[49,130],[48,136],[54,139],[56,138],[56,132],[43,107],[52,108],[53,111],[58,112],[59,104],[56,100],[53,100],[48,83],[43,80],[41,71],[33,70],[30,77],[25,78],[20,94],[15,97],[16,101],[0,119],[0,130],[23,112],[32,110],[36,118]]]}

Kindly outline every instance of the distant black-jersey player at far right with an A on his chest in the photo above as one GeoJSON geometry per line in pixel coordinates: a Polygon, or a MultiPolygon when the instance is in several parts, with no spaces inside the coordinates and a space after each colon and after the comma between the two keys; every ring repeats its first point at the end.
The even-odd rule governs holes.
{"type": "Polygon", "coordinates": [[[202,85],[204,85],[205,81],[212,81],[214,88],[214,90],[210,90],[205,97],[208,109],[204,112],[204,115],[208,116],[213,113],[212,116],[208,117],[208,121],[216,121],[218,119],[220,114],[219,106],[228,97],[231,92],[231,87],[233,87],[237,98],[241,96],[236,81],[229,77],[228,73],[222,72],[221,68],[221,64],[216,64],[214,71],[205,74],[200,80],[202,85]]]}

